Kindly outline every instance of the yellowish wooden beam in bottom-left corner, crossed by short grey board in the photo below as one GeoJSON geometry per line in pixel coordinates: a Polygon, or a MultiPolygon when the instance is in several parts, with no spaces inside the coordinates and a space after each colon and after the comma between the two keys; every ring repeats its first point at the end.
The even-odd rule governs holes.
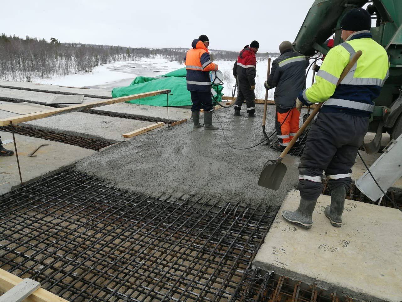
{"type": "MultiPolygon", "coordinates": [[[[16,286],[18,283],[23,281],[22,278],[0,269],[0,292],[8,292],[16,286]]],[[[68,302],[67,300],[39,288],[35,290],[29,297],[27,297],[24,302],[68,302]]]]}

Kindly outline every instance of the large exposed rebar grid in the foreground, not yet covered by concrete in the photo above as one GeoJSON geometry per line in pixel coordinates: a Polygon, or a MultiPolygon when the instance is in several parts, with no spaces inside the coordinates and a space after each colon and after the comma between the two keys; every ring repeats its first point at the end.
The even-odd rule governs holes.
{"type": "Polygon", "coordinates": [[[234,302],[275,212],[217,203],[65,170],[0,197],[0,267],[74,302],[234,302]]]}

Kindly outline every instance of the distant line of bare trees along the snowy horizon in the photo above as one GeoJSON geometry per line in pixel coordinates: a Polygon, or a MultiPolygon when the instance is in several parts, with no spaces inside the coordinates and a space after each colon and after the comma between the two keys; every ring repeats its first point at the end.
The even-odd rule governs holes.
{"type": "MultiPolygon", "coordinates": [[[[0,80],[31,81],[53,75],[92,72],[95,66],[115,61],[139,60],[162,56],[183,63],[185,48],[132,48],[124,46],[60,43],[27,36],[0,35],[0,80]]],[[[276,53],[257,53],[257,60],[278,56],[276,53]]],[[[236,60],[237,52],[211,50],[213,60],[236,60]]]]}

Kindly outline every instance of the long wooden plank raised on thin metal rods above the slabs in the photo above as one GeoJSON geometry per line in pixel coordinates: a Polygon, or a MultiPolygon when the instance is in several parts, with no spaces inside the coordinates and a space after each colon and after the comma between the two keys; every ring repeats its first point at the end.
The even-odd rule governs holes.
{"type": "Polygon", "coordinates": [[[159,94],[164,94],[164,93],[169,93],[169,92],[170,92],[169,89],[150,91],[150,92],[145,92],[145,93],[129,95],[126,97],[115,97],[114,99],[105,99],[102,101],[96,101],[96,102],[87,103],[87,104],[73,105],[73,106],[64,107],[64,108],[51,109],[51,110],[47,110],[47,111],[43,111],[43,112],[24,114],[24,115],[20,115],[20,116],[13,116],[11,118],[3,118],[3,119],[0,119],[0,126],[8,126],[8,125],[10,125],[10,122],[12,122],[13,124],[29,122],[31,120],[39,120],[41,118],[46,118],[48,116],[53,116],[53,115],[57,115],[57,114],[64,114],[67,112],[74,112],[74,111],[83,110],[83,109],[90,109],[93,107],[98,107],[98,106],[103,106],[103,105],[121,103],[124,101],[131,101],[133,99],[141,99],[143,97],[150,97],[153,95],[159,95],[159,94]]]}

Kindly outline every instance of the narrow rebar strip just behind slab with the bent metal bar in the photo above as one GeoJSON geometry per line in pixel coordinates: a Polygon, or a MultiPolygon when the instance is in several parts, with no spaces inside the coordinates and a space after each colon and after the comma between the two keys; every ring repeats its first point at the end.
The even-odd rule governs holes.
{"type": "MultiPolygon", "coordinates": [[[[11,132],[11,126],[0,126],[0,131],[11,132]]],[[[99,151],[102,148],[113,145],[114,143],[102,141],[100,139],[87,139],[76,135],[69,135],[49,130],[41,130],[26,126],[14,125],[14,133],[25,135],[28,137],[36,137],[37,139],[46,139],[48,141],[64,143],[68,145],[78,146],[85,149],[99,151]]]]}

